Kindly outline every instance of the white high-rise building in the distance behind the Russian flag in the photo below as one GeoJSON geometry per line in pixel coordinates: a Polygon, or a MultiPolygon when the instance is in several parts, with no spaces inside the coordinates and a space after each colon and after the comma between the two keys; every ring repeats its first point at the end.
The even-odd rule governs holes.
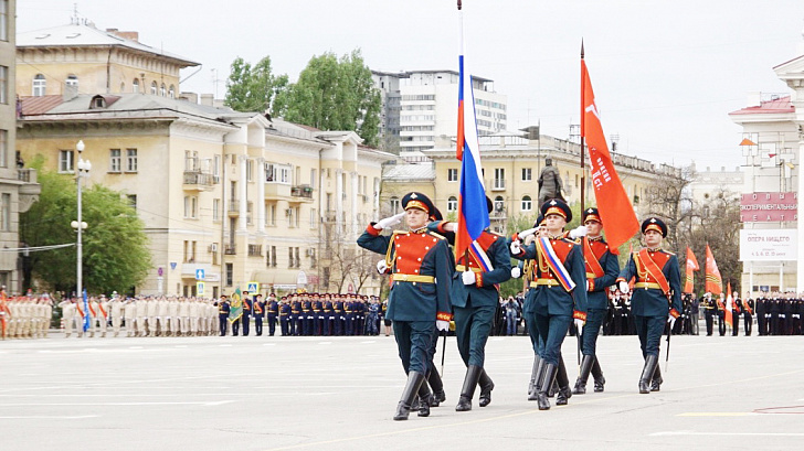
{"type": "MultiPolygon", "coordinates": [[[[449,139],[457,135],[459,78],[456,71],[374,72],[377,87],[385,94],[383,99],[395,98],[395,93],[390,89],[399,89],[399,146],[402,154],[433,149],[438,143],[448,144],[449,139]],[[396,83],[391,83],[390,78],[396,78],[396,83]]],[[[472,78],[478,133],[505,130],[507,97],[494,90],[494,80],[478,76],[472,78]]],[[[383,108],[383,111],[387,110],[383,108]]],[[[395,119],[393,116],[389,115],[383,121],[395,119]]],[[[389,122],[385,129],[391,128],[389,122]]]]}

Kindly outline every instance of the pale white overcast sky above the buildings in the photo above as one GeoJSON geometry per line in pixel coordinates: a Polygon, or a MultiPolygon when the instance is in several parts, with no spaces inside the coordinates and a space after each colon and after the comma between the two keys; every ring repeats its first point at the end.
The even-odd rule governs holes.
{"type": "MultiPolygon", "coordinates": [[[[654,162],[733,170],[748,93],[787,94],[773,67],[804,54],[802,0],[464,0],[467,68],[508,98],[508,129],[567,139],[580,121],[580,47],[606,136],[654,162]]],[[[298,77],[310,57],[360,49],[378,71],[453,69],[456,0],[18,0],[18,32],[70,23],[202,64],[182,90],[225,94],[232,61],[269,56],[298,77]],[[215,83],[215,79],[218,83],[215,83]]]]}

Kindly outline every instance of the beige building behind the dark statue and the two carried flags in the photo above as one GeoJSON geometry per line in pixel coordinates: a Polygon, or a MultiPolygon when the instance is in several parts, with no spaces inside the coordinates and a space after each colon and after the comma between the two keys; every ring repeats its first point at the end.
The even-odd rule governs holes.
{"type": "MultiPolygon", "coordinates": [[[[510,221],[527,219],[532,223],[538,216],[539,174],[544,169],[544,160],[550,158],[559,170],[563,184],[563,195],[570,204],[581,200],[580,144],[533,133],[500,132],[480,137],[480,158],[483,160],[486,193],[494,202],[490,214],[491,228],[508,233],[510,221]]],[[[383,210],[392,211],[393,197],[400,193],[419,190],[433,193],[433,201],[445,217],[455,217],[459,192],[461,162],[452,148],[424,151],[432,163],[409,164],[408,169],[395,168],[396,173],[422,172],[421,167],[430,167],[432,179],[413,179],[415,183],[400,186],[399,182],[383,179],[383,210]],[[419,168],[417,168],[419,167],[419,168]]],[[[612,153],[617,174],[628,197],[639,215],[639,206],[648,194],[648,187],[657,176],[677,174],[678,170],[664,164],[654,164],[635,157],[612,153]]],[[[389,174],[390,169],[387,169],[389,174]]],[[[396,179],[401,176],[396,175],[396,179]]],[[[404,176],[402,176],[404,178],[404,176]]],[[[585,175],[585,204],[595,205],[592,182],[589,176],[589,162],[585,175]]]]}

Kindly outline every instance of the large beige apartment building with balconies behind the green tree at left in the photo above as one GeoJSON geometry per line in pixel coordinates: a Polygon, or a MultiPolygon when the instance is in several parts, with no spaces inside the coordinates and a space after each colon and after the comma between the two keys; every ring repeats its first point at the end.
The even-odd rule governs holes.
{"type": "Polygon", "coordinates": [[[136,32],[74,20],[21,41],[18,149],[74,174],[84,141],[89,183],[123,192],[145,222],[152,269],[137,292],[379,289],[356,239],[378,216],[382,163],[394,155],[355,132],[178,95],[179,69],[198,63],[136,32]]]}

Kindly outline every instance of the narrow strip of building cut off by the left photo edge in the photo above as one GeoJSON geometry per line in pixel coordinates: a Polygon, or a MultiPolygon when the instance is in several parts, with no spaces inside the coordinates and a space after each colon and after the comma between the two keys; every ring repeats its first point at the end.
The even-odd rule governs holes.
{"type": "Polygon", "coordinates": [[[8,292],[22,292],[28,259],[15,249],[20,243],[19,214],[38,198],[36,172],[25,169],[15,158],[17,109],[12,87],[15,83],[17,1],[0,0],[0,284],[8,292]]]}

